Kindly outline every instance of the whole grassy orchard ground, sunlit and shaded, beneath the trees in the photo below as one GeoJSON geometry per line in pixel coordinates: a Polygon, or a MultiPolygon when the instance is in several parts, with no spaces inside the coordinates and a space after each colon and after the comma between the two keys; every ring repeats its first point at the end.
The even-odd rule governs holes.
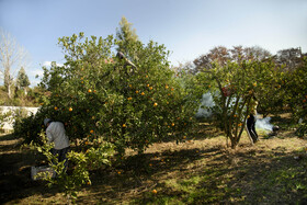
{"type": "MultiPolygon", "coordinates": [[[[307,203],[305,138],[294,135],[288,115],[272,118],[274,137],[259,132],[254,146],[246,134],[236,150],[223,134],[200,124],[184,143],[162,141],[138,156],[127,150],[121,163],[91,172],[78,204],[304,204],[307,203]]],[[[20,149],[21,139],[0,136],[0,201],[4,204],[66,204],[58,187],[31,181],[42,162],[20,149]]]]}

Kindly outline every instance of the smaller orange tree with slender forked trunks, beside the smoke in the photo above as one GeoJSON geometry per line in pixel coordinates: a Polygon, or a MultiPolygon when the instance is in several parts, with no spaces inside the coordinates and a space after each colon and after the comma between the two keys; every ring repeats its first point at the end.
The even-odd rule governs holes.
{"type": "Polygon", "coordinates": [[[263,93],[268,92],[268,84],[278,79],[271,60],[228,61],[223,67],[214,62],[212,69],[200,72],[196,78],[202,83],[213,82],[209,84],[215,102],[213,113],[227,139],[230,139],[231,148],[240,141],[252,98],[261,103],[266,96],[263,93]]]}

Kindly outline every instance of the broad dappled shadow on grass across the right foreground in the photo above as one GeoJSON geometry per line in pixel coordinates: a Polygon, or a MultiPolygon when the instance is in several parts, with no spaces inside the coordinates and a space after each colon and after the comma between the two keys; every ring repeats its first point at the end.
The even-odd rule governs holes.
{"type": "Polygon", "coordinates": [[[133,156],[92,172],[91,194],[77,203],[90,196],[106,204],[299,204],[307,198],[307,160],[296,155],[246,146],[133,156]]]}

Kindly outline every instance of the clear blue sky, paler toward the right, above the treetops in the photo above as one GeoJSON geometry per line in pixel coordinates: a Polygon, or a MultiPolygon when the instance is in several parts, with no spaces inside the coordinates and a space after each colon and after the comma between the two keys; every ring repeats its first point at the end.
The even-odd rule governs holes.
{"type": "Polygon", "coordinates": [[[115,35],[122,16],[144,44],[163,44],[173,66],[216,46],[307,53],[307,0],[0,0],[0,29],[29,52],[32,87],[42,66],[65,62],[59,37],[115,35]]]}

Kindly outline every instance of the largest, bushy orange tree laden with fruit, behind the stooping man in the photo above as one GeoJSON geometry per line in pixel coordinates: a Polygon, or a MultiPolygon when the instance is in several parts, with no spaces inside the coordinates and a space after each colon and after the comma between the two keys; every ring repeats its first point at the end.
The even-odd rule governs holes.
{"type": "Polygon", "coordinates": [[[64,122],[82,149],[101,137],[121,155],[125,148],[141,152],[170,134],[182,139],[195,103],[169,68],[164,46],[133,42],[127,48],[137,57],[130,65],[112,52],[116,44],[112,36],[83,33],[59,38],[66,62],[44,68],[41,87],[50,94],[35,117],[64,122]]]}

